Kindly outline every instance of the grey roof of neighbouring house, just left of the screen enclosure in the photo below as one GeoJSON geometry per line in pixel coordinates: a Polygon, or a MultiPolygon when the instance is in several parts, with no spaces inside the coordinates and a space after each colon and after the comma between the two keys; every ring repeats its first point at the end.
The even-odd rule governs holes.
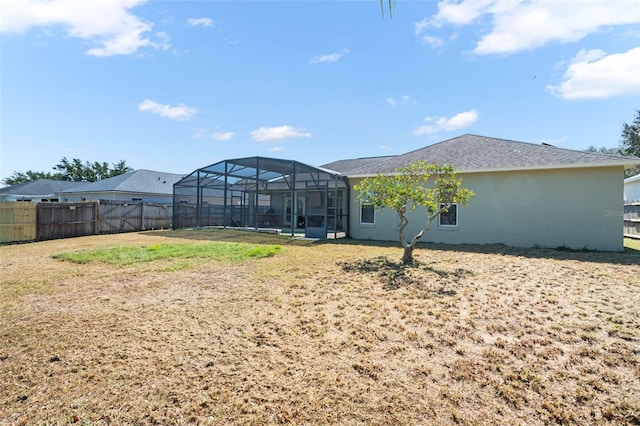
{"type": "Polygon", "coordinates": [[[86,182],[61,193],[79,192],[135,192],[147,194],[173,194],[173,184],[184,175],[151,170],[134,170],[96,182],[86,182]]]}

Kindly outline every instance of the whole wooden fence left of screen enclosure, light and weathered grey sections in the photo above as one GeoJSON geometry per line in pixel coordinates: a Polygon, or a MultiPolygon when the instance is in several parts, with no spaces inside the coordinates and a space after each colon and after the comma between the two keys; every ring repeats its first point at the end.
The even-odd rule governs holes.
{"type": "Polygon", "coordinates": [[[0,203],[0,243],[171,228],[171,204],[89,201],[0,203]]]}

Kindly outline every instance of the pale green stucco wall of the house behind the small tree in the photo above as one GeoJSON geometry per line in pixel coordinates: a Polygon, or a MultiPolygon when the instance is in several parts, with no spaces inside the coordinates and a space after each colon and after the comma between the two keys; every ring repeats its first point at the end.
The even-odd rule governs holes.
{"type": "MultiPolygon", "coordinates": [[[[476,195],[459,207],[457,229],[438,227],[422,241],[516,247],[623,250],[622,167],[461,174],[476,195]]],[[[351,179],[357,184],[360,179],[351,179]]],[[[350,234],[355,239],[398,239],[398,219],[390,209],[376,212],[374,225],[360,224],[353,191],[350,234]]],[[[411,214],[407,236],[424,224],[426,212],[411,214]]]]}

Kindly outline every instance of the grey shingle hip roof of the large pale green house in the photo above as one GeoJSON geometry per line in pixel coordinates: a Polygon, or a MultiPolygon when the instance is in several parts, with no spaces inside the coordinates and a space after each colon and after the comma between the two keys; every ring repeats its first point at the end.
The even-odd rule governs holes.
{"type": "Polygon", "coordinates": [[[640,164],[640,158],[635,157],[575,151],[547,144],[467,134],[380,161],[370,163],[363,161],[359,167],[349,170],[347,175],[368,176],[377,173],[393,173],[398,167],[418,160],[434,164],[451,164],[460,172],[640,164]]]}

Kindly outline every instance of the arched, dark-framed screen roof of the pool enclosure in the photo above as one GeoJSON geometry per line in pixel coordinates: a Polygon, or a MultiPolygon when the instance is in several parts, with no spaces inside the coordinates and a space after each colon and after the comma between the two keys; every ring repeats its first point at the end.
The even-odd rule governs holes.
{"type": "Polygon", "coordinates": [[[338,172],[294,160],[247,157],[199,168],[175,186],[247,190],[257,185],[260,190],[277,190],[344,180],[345,177],[338,172]]]}

